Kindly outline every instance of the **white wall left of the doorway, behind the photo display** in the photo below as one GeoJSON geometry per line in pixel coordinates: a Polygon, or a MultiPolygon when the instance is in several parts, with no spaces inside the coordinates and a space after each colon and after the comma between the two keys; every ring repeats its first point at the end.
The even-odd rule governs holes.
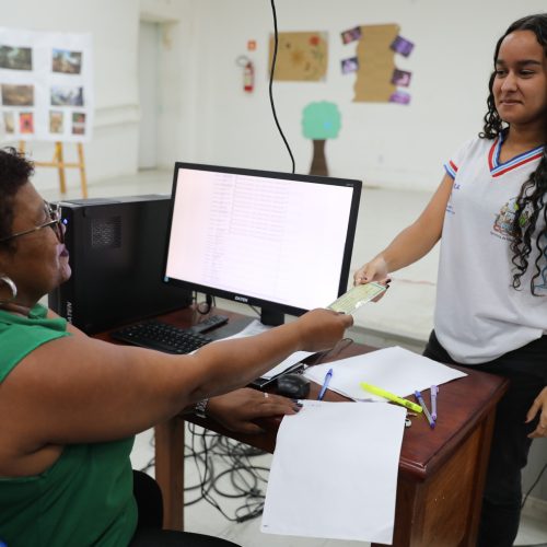
{"type": "MultiPolygon", "coordinates": [[[[85,144],[90,182],[135,173],[137,170],[139,104],[137,94],[137,0],[0,0],[1,25],[34,31],[93,35],[95,127],[85,144]]],[[[53,143],[31,143],[36,161],[50,160],[53,143]]],[[[75,146],[65,146],[66,159],[75,160],[75,146]]],[[[77,170],[68,170],[79,185],[77,170]]],[[[38,189],[58,186],[57,172],[38,168],[38,189]]]]}

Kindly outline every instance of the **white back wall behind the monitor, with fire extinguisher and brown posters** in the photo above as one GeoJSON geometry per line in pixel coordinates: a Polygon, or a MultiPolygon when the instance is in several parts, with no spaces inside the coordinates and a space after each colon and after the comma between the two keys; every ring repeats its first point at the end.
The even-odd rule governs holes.
{"type": "MultiPolygon", "coordinates": [[[[296,159],[307,172],[312,144],[301,131],[302,108],[312,101],[337,103],[342,129],[327,143],[335,176],[363,178],[371,185],[433,189],[442,163],[463,140],[481,128],[493,46],[514,19],[545,9],[544,0],[525,7],[512,0],[277,0],[280,31],[327,31],[329,67],[321,83],[276,82],[279,119],[296,159]],[[357,24],[397,23],[416,43],[397,65],[412,71],[410,106],[352,102],[352,75],[340,59],[354,46],[339,33],[357,24]]],[[[257,0],[194,2],[193,69],[185,88],[199,90],[193,118],[182,133],[178,159],[288,171],[289,155],[277,133],[267,96],[267,46],[272,30],[270,3],[257,0]],[[257,40],[254,53],[246,40],[257,40]],[[257,67],[255,93],[242,91],[238,55],[257,67]],[[197,62],[197,67],[196,67],[197,62]],[[191,83],[188,81],[191,79],[191,83]]],[[[189,114],[189,113],[187,113],[189,114]]],[[[165,158],[170,165],[173,158],[165,158]]]]}

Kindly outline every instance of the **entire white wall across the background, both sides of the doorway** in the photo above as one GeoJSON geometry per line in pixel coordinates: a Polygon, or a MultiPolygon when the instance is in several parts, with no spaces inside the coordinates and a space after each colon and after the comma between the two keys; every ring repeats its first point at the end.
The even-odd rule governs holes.
{"type": "MultiPolygon", "coordinates": [[[[497,37],[514,19],[545,10],[544,0],[277,0],[279,31],[327,31],[329,66],[324,82],[275,82],[278,116],[296,171],[310,168],[312,143],[301,130],[312,101],[338,104],[339,137],[327,142],[334,176],[370,185],[433,189],[442,163],[481,127],[487,80],[497,37]],[[397,23],[415,42],[397,66],[412,71],[410,106],[353,103],[353,75],[339,62],[354,50],[339,33],[358,24],[397,23]]],[[[289,171],[290,160],[268,100],[267,0],[0,0],[2,25],[43,31],[91,32],[94,37],[96,117],[85,147],[93,181],[130,174],[138,154],[139,19],[162,23],[159,164],[175,160],[289,171]],[[246,51],[247,39],[257,42],[246,51]],[[256,65],[255,92],[242,90],[238,55],[256,65]]],[[[72,153],[67,146],[67,152],[72,153]]],[[[36,160],[53,154],[34,146],[36,160]]],[[[73,175],[77,177],[77,174],[73,175]]],[[[38,188],[55,187],[56,173],[40,170],[38,188]]]]}

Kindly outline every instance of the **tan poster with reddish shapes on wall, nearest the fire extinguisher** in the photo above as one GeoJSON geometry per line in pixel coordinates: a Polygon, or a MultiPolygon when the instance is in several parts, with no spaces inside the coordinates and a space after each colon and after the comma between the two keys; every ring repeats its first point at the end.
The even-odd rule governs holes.
{"type": "MultiPolygon", "coordinates": [[[[269,62],[274,57],[270,36],[269,62]]],[[[328,61],[328,36],[325,32],[279,33],[274,80],[318,82],[325,80],[328,61]]]]}

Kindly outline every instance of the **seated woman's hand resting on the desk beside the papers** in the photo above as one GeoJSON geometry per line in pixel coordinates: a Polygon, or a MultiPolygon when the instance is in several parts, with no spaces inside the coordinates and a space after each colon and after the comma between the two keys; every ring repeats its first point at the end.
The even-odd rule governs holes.
{"type": "Polygon", "coordinates": [[[235,389],[212,397],[207,405],[207,414],[230,431],[240,433],[263,433],[257,418],[293,415],[300,407],[291,399],[279,395],[266,394],[249,387],[235,389]]]}

